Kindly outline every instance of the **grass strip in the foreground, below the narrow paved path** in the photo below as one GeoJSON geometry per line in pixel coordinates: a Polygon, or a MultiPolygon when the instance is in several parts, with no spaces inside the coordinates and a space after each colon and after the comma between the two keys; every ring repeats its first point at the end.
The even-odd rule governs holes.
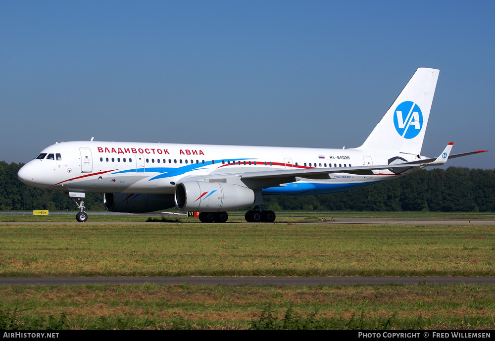
{"type": "Polygon", "coordinates": [[[0,287],[1,329],[488,329],[493,286],[0,287]]]}

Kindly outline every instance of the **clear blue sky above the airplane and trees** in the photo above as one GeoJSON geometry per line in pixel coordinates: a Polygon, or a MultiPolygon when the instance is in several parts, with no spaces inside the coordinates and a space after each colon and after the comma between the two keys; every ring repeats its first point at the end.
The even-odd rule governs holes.
{"type": "Polygon", "coordinates": [[[360,146],[440,69],[422,154],[495,168],[494,1],[8,1],[0,160],[57,141],[360,146]]]}

